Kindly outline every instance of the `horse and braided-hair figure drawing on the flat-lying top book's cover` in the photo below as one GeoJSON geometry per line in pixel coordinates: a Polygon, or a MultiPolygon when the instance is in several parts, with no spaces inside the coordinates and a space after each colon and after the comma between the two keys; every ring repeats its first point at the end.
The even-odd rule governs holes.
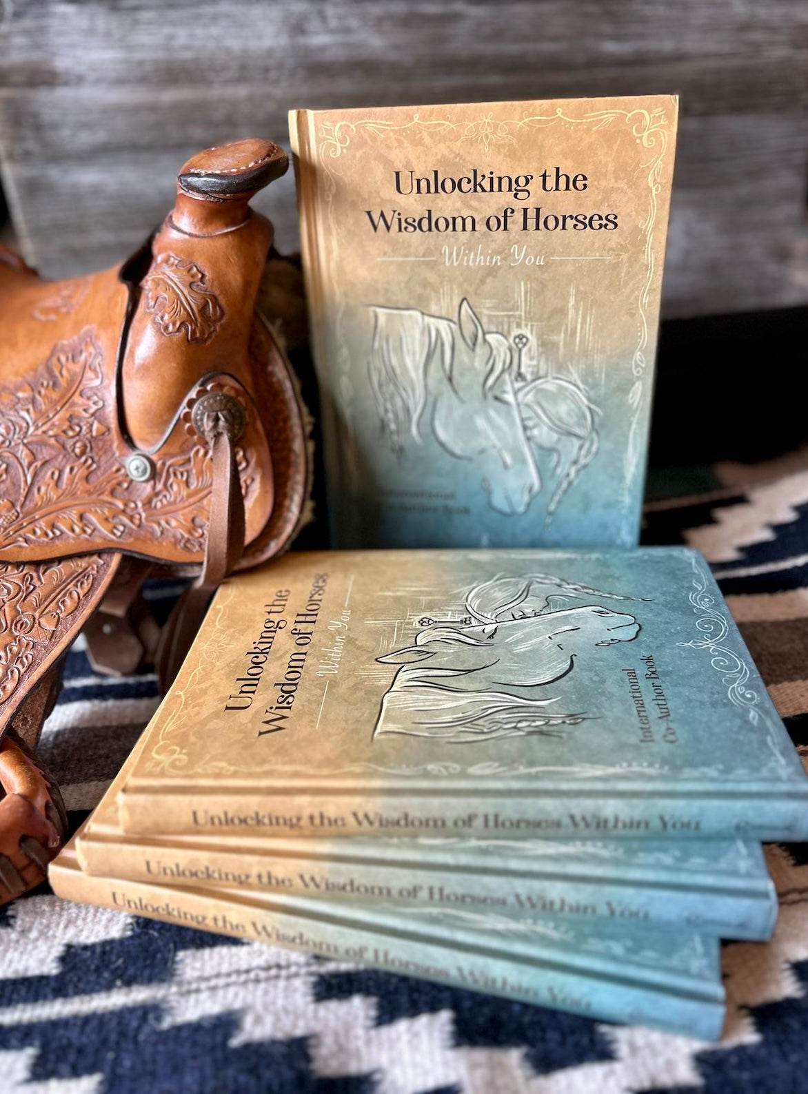
{"type": "Polygon", "coordinates": [[[561,736],[596,717],[557,707],[551,685],[586,671],[598,649],[637,637],[636,616],[601,603],[615,600],[632,597],[545,573],[480,582],[465,596],[468,615],[423,618],[413,644],[377,659],[401,667],[373,737],[403,733],[460,744],[561,736]]]}

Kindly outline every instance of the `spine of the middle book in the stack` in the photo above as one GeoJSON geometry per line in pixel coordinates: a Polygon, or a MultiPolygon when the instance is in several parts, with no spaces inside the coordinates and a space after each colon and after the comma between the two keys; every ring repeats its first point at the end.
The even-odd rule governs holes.
{"type": "Polygon", "coordinates": [[[688,888],[676,877],[643,885],[613,878],[509,875],[476,869],[417,869],[340,859],[250,854],[239,849],[154,847],[129,840],[80,837],[82,869],[94,876],[125,877],[149,884],[243,888],[266,895],[322,897],[361,904],[472,910],[518,922],[564,918],[686,927],[724,939],[762,942],[771,938],[777,913],[774,887],[748,893],[688,888]]]}

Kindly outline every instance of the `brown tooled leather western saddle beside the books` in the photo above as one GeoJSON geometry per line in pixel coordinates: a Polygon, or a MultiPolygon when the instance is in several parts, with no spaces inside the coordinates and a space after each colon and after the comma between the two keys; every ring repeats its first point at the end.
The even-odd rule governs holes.
{"type": "Polygon", "coordinates": [[[308,417],[256,309],[273,229],[249,206],[287,166],[267,141],[200,153],[101,274],[43,281],[0,247],[0,904],[66,836],[34,748],[79,630],[96,666],[154,661],[165,685],[216,584],[303,521],[308,417]],[[166,572],[195,580],[160,630],[140,586],[166,572]]]}

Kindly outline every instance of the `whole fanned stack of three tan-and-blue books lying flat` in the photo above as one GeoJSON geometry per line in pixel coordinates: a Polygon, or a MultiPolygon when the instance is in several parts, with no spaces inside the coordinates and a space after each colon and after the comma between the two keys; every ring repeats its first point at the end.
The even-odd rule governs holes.
{"type": "Polygon", "coordinates": [[[684,548],[227,580],[58,894],[705,1039],[808,779],[684,548]]]}

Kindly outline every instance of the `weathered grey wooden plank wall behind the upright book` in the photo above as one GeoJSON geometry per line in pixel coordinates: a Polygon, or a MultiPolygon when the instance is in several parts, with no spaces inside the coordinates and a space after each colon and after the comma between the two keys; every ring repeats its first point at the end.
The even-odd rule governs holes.
{"type": "MultiPolygon", "coordinates": [[[[666,314],[808,301],[805,0],[0,0],[3,182],[30,260],[112,264],[193,151],[290,106],[678,92],[666,314]]],[[[262,197],[296,245],[290,178],[262,197]]]]}

